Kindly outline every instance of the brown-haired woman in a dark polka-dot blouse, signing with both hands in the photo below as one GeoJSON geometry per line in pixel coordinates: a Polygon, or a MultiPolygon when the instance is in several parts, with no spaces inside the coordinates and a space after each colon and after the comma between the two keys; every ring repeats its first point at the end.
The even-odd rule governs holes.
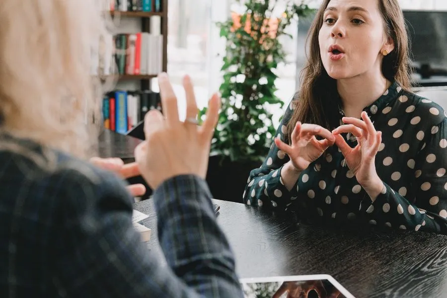
{"type": "Polygon", "coordinates": [[[397,0],[324,0],[309,39],[300,90],[245,204],[447,234],[447,116],[410,90],[397,0]]]}

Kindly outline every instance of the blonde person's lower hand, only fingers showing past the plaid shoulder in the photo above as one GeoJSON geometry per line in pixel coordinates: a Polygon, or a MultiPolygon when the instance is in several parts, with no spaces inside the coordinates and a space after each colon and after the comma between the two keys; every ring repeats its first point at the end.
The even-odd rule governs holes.
{"type": "MultiPolygon", "coordinates": [[[[101,158],[92,157],[90,162],[103,170],[117,173],[123,179],[140,175],[140,170],[136,162],[124,164],[121,158],[101,158]]],[[[127,190],[133,197],[141,197],[146,193],[146,187],[143,184],[133,184],[127,186],[127,190]]]]}

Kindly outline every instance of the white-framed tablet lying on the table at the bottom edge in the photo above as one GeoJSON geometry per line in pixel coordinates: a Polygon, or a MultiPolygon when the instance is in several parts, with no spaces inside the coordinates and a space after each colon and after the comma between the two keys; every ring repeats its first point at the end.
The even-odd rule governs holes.
{"type": "Polygon", "coordinates": [[[239,282],[245,298],[354,298],[326,274],[242,278],[239,282]]]}

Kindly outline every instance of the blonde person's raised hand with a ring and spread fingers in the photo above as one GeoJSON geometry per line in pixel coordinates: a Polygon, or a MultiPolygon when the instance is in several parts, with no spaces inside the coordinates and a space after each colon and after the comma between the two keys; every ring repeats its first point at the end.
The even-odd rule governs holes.
{"type": "MultiPolygon", "coordinates": [[[[145,116],[146,140],[135,149],[135,160],[152,189],[164,180],[183,174],[205,179],[211,138],[218,121],[220,98],[213,95],[202,126],[178,118],[177,98],[167,74],[158,75],[163,115],[157,110],[145,116]]],[[[183,79],[186,92],[186,119],[196,119],[198,109],[189,76],[183,79]]]]}

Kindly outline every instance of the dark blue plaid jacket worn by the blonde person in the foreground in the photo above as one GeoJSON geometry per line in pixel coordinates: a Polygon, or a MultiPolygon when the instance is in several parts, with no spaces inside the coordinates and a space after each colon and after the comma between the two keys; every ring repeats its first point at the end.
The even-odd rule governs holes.
{"type": "Polygon", "coordinates": [[[204,180],[178,176],[154,192],[166,267],[134,230],[118,177],[5,140],[34,159],[0,145],[0,297],[243,296],[204,180]]]}

